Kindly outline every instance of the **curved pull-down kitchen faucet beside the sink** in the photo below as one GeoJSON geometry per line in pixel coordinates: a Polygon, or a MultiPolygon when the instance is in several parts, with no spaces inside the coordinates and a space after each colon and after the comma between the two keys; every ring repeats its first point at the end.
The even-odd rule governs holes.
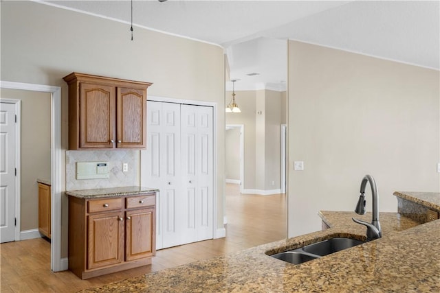
{"type": "Polygon", "coordinates": [[[355,212],[358,215],[365,215],[366,213],[366,209],[365,209],[366,200],[364,194],[365,194],[365,186],[367,182],[370,183],[371,194],[373,196],[373,220],[371,220],[371,224],[370,224],[355,218],[352,219],[356,223],[366,226],[366,240],[370,241],[382,237],[382,230],[380,228],[380,222],[379,222],[379,210],[377,209],[377,200],[379,194],[377,194],[377,186],[373,176],[371,175],[365,175],[364,178],[362,179],[362,182],[360,183],[360,196],[359,196],[358,204],[356,204],[355,212]]]}

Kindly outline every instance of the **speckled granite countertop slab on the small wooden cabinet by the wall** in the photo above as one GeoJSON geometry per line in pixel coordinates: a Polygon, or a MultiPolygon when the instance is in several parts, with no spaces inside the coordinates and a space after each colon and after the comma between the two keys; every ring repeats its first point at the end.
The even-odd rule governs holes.
{"type": "Polygon", "coordinates": [[[137,194],[150,194],[159,192],[159,189],[142,187],[142,186],[126,186],[99,189],[83,189],[66,191],[67,196],[76,198],[93,199],[93,198],[112,198],[119,196],[135,196],[137,194]]]}

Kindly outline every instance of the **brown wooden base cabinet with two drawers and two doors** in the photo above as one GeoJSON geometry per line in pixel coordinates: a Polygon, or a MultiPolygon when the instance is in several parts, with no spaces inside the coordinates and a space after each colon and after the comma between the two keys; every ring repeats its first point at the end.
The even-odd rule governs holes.
{"type": "Polygon", "coordinates": [[[155,194],[69,196],[69,270],[81,279],[151,264],[155,194]]]}

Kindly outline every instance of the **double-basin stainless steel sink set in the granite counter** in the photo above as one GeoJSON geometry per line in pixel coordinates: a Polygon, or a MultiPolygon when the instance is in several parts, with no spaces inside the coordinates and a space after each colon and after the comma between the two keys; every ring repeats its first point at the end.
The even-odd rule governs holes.
{"type": "Polygon", "coordinates": [[[323,257],[325,255],[330,255],[331,253],[337,253],[340,250],[351,248],[363,243],[365,242],[357,239],[335,237],[309,244],[304,247],[285,251],[284,253],[277,253],[276,255],[271,255],[271,257],[293,264],[300,264],[323,257]]]}

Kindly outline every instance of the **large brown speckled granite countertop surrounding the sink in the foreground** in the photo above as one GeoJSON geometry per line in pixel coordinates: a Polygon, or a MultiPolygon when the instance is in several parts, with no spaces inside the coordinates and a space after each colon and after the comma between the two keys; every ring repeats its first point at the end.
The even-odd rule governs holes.
{"type": "MultiPolygon", "coordinates": [[[[417,200],[404,194],[406,200],[417,200]]],[[[430,208],[440,211],[436,198],[440,194],[428,194],[430,208]]],[[[331,237],[365,239],[365,227],[355,224],[353,216],[371,220],[371,213],[321,211],[331,227],[325,231],[83,292],[440,292],[440,220],[420,224],[401,213],[380,213],[380,239],[300,265],[270,257],[331,237]]]]}

